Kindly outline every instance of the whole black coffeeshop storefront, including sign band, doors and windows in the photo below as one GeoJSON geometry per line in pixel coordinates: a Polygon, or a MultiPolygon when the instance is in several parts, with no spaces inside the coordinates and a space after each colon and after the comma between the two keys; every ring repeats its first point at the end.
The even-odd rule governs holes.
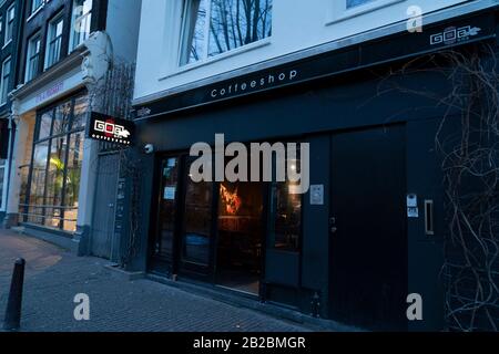
{"type": "Polygon", "coordinates": [[[442,117],[459,117],[438,101],[448,77],[425,60],[406,65],[495,46],[496,34],[488,10],[138,106],[141,242],[128,268],[363,329],[444,329],[435,142],[442,117]],[[189,150],[216,134],[227,144],[308,143],[310,190],[194,184],[189,150]],[[413,293],[424,321],[407,320],[413,293]]]}

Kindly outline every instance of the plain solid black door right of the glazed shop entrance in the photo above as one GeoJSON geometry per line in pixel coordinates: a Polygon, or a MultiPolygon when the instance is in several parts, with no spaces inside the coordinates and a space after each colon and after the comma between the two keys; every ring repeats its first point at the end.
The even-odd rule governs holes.
{"type": "Polygon", "coordinates": [[[332,317],[405,330],[407,232],[405,127],[332,137],[332,317]]]}

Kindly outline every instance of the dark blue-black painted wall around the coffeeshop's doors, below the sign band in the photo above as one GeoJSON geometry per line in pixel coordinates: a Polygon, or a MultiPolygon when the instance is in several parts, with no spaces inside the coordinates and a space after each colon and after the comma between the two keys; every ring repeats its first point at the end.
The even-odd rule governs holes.
{"type": "MultiPolygon", "coordinates": [[[[431,86],[437,96],[445,95],[449,82],[442,75],[420,72],[417,75],[394,76],[399,84],[414,90],[431,86]]],[[[304,138],[310,143],[310,183],[325,185],[325,205],[310,206],[308,194],[304,197],[304,235],[302,287],[320,290],[327,299],[328,284],[328,218],[329,218],[329,134],[334,131],[358,129],[394,123],[406,123],[408,192],[421,197],[439,188],[437,164],[432,143],[438,118],[447,107],[422,95],[393,90],[379,94],[380,80],[369,72],[348,77],[337,77],[288,87],[273,94],[255,95],[165,115],[139,123],[135,154],[142,162],[141,186],[141,249],[130,269],[146,269],[146,239],[150,228],[150,207],[153,198],[153,155],[142,153],[145,144],[153,144],[155,152],[189,149],[197,142],[212,143],[214,135],[224,133],[230,142],[265,142],[304,138]]],[[[361,163],[361,162],[359,162],[361,163]]],[[[441,268],[441,246],[421,237],[424,218],[409,222],[409,290],[422,293],[425,309],[431,321],[413,325],[414,329],[441,327],[442,299],[438,288],[441,268]],[[431,315],[430,315],[431,313],[431,315]]],[[[361,279],[359,279],[361,281],[361,279]]],[[[327,301],[320,312],[327,314],[327,301]]]]}

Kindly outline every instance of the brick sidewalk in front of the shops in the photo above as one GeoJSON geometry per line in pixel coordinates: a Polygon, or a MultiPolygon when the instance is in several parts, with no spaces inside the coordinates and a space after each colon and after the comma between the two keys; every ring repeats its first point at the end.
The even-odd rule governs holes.
{"type": "Polygon", "coordinates": [[[43,241],[3,230],[0,230],[0,324],[18,257],[27,260],[22,331],[306,331],[294,323],[150,280],[126,281],[105,269],[105,260],[78,258],[43,241]],[[90,321],[73,319],[72,301],[77,293],[90,296],[90,321]]]}

